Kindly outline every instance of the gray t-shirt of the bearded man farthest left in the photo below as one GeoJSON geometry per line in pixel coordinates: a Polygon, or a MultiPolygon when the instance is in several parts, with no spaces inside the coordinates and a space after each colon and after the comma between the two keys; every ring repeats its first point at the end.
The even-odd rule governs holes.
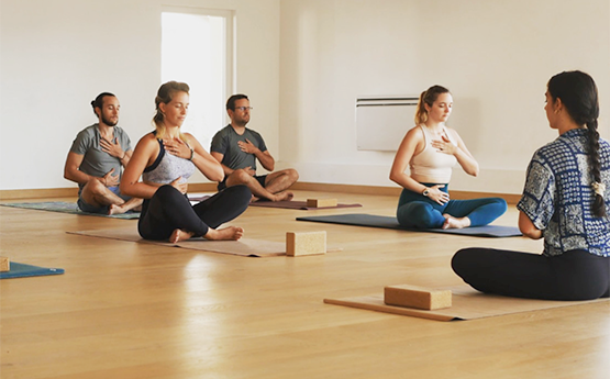
{"type": "MultiPolygon", "coordinates": [[[[131,151],[131,141],[127,133],[119,126],[114,126],[113,133],[114,137],[119,140],[123,152],[131,151]]],[[[114,168],[113,175],[119,175],[120,179],[123,174],[121,169],[121,159],[103,152],[100,140],[101,135],[98,124],[87,126],[78,133],[76,140],[73,142],[70,152],[84,156],[79,170],[95,177],[103,177],[114,168]]],[[[79,185],[80,188],[82,188],[82,186],[79,185]]]]}

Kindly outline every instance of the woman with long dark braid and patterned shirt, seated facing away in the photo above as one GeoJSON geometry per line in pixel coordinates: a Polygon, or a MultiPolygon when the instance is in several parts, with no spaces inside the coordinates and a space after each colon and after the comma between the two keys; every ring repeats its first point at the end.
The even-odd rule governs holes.
{"type": "Polygon", "coordinates": [[[546,118],[559,136],[528,167],[517,204],[519,228],[544,238],[542,255],[466,248],[454,271],[475,289],[518,298],[589,300],[610,297],[610,144],[599,137],[594,79],[555,75],[546,90],[546,118]]]}

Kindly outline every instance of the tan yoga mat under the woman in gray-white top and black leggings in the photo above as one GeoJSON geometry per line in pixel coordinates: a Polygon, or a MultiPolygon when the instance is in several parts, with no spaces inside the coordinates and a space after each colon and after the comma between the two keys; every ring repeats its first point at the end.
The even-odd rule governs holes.
{"type": "Polygon", "coordinates": [[[262,239],[241,238],[240,241],[207,241],[191,238],[177,244],[163,241],[143,239],[133,227],[107,228],[98,231],[67,232],[69,234],[90,237],[130,241],[144,244],[154,244],[168,247],[182,247],[195,250],[204,250],[221,254],[240,255],[244,257],[275,257],[286,255],[286,243],[262,239]]]}

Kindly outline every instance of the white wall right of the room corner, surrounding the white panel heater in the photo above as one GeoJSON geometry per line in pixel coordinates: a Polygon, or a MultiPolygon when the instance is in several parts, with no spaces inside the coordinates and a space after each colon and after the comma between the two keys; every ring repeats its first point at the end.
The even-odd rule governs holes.
{"type": "Polygon", "coordinates": [[[476,179],[455,169],[452,189],[521,192],[533,152],[557,135],[543,107],[562,70],[596,79],[610,137],[608,0],[282,0],[280,21],[280,155],[303,181],[395,186],[392,153],[356,149],[355,99],[435,83],[481,167],[476,179]]]}

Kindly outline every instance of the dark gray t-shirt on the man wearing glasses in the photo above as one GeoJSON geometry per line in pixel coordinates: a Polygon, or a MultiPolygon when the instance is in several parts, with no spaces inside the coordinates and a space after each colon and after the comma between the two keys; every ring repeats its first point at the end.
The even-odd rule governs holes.
{"type": "Polygon", "coordinates": [[[231,125],[226,125],[218,131],[212,138],[210,151],[223,154],[224,156],[221,164],[233,170],[248,166],[256,170],[256,156],[242,152],[240,145],[237,145],[239,141],[245,142],[246,140],[258,147],[260,152],[264,153],[267,151],[267,146],[260,134],[246,127],[244,134],[239,135],[231,125]]]}

